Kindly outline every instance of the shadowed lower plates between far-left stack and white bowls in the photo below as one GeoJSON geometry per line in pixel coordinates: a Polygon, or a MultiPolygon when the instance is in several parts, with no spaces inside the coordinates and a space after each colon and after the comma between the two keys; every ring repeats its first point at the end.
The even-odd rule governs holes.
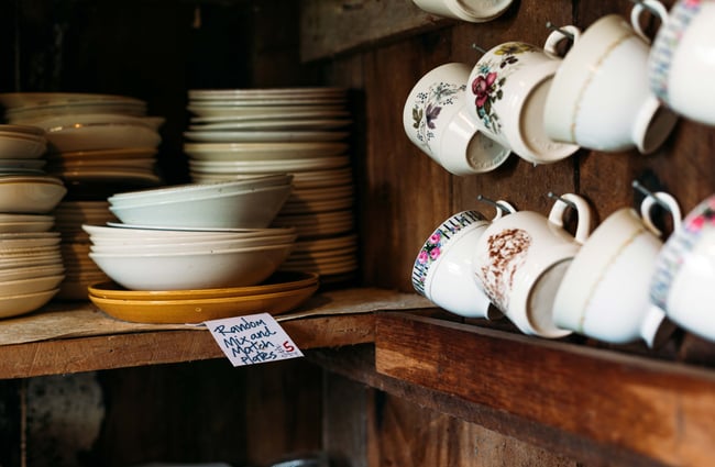
{"type": "Polygon", "coordinates": [[[87,288],[109,280],[109,277],[89,258],[90,241],[82,224],[101,225],[116,222],[107,201],[63,201],[54,211],[55,230],[62,237],[61,251],[65,265],[65,280],[57,299],[87,300],[87,288]]]}

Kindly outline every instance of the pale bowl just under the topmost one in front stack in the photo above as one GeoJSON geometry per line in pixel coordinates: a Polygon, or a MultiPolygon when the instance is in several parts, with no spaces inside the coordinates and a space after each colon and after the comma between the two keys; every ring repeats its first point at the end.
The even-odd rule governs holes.
{"type": "Polygon", "coordinates": [[[290,185],[178,201],[110,205],[125,224],[210,229],[264,229],[290,196],[290,185]]]}

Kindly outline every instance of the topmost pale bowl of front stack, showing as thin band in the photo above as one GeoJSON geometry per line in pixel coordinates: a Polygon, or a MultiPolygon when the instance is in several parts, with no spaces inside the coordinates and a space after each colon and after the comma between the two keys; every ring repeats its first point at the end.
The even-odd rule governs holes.
{"type": "Polygon", "coordinates": [[[256,188],[290,185],[293,176],[288,174],[262,175],[243,180],[223,181],[218,184],[186,184],[173,187],[152,188],[146,190],[128,191],[109,197],[112,205],[146,204],[163,201],[183,201],[207,196],[220,196],[256,188]]]}

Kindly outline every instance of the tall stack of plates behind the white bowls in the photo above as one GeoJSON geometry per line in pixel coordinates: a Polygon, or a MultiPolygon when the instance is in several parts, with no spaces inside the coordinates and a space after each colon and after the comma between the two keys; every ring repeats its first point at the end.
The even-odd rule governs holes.
{"type": "Polygon", "coordinates": [[[194,116],[184,151],[193,180],[293,175],[293,192],[272,225],[295,227],[302,247],[280,269],[317,273],[322,283],[352,277],[358,259],[346,90],[191,90],[187,109],[194,116]],[[339,242],[334,252],[323,246],[330,240],[339,242]]]}

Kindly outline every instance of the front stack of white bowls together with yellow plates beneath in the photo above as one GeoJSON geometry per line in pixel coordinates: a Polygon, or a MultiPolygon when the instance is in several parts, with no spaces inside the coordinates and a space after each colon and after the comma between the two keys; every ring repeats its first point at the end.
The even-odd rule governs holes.
{"type": "Polygon", "coordinates": [[[89,299],[116,318],[151,320],[146,322],[187,322],[183,311],[189,309],[201,321],[249,308],[282,312],[295,307],[315,291],[317,278],[271,279],[297,237],[293,227],[270,227],[290,194],[292,178],[282,174],[110,197],[109,210],[120,222],[82,229],[90,240],[89,257],[116,285],[90,287],[89,299]],[[118,296],[121,290],[138,293],[118,296]],[[263,302],[256,298],[266,293],[271,296],[263,302]],[[134,310],[154,312],[138,318],[120,296],[134,310]]]}

